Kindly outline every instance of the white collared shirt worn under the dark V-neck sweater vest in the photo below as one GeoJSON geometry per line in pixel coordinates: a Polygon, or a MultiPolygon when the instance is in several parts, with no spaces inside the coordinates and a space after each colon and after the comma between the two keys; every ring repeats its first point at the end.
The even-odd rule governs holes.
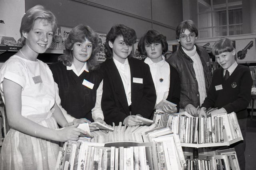
{"type": "MultiPolygon", "coordinates": [[[[80,76],[84,71],[89,72],[88,67],[87,67],[87,63],[84,63],[84,66],[82,67],[82,69],[80,70],[80,72],[78,73],[76,71],[76,68],[74,66],[74,64],[72,63],[71,66],[66,66],[67,70],[72,70],[77,76],[80,76]]],[[[67,111],[60,105],[60,96],[59,94],[59,89],[58,89],[58,84],[55,83],[55,87],[56,87],[56,103],[58,104],[58,106],[60,107],[64,117],[67,119],[68,122],[72,122],[74,120],[74,117],[72,117],[71,115],[69,115],[67,113],[67,111]]],[[[96,91],[96,102],[95,102],[95,106],[94,108],[92,108],[92,119],[95,121],[97,118],[101,118],[102,120],[104,120],[104,115],[103,115],[103,111],[101,109],[101,98],[102,98],[102,91],[103,91],[103,80],[100,82],[99,87],[97,88],[96,91]]]]}

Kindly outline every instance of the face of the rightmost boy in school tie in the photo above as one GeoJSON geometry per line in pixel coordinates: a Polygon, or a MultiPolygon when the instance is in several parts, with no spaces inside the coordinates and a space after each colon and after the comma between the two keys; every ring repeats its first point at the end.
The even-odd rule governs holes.
{"type": "Polygon", "coordinates": [[[224,52],[224,53],[221,53],[220,55],[216,55],[215,59],[223,69],[228,69],[232,64],[235,63],[235,57],[234,57],[235,55],[236,55],[236,50],[234,49],[231,52],[224,52]]]}

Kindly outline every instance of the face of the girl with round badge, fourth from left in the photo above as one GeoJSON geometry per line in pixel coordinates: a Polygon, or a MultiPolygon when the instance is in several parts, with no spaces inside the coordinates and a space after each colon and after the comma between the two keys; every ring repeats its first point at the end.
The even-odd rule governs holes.
{"type": "Polygon", "coordinates": [[[148,57],[154,62],[157,63],[162,60],[162,44],[161,43],[152,43],[145,45],[146,53],[148,57]]]}

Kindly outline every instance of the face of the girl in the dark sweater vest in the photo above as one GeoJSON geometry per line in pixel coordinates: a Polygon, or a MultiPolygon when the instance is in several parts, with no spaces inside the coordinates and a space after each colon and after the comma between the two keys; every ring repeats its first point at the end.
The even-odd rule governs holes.
{"type": "Polygon", "coordinates": [[[73,57],[74,57],[73,63],[75,62],[84,63],[88,59],[90,59],[92,55],[92,43],[86,38],[82,43],[79,43],[79,42],[74,43],[72,50],[73,50],[73,57]]]}

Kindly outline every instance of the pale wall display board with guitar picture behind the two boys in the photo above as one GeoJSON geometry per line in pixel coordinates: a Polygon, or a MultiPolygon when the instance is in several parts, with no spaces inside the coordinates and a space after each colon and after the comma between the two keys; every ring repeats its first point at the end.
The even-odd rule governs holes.
{"type": "MultiPolygon", "coordinates": [[[[206,47],[208,51],[212,49],[214,43],[221,37],[211,37],[204,39],[196,39],[196,44],[206,47]]],[[[238,63],[256,63],[256,34],[243,34],[226,36],[226,38],[234,41],[236,48],[236,61],[238,63]]],[[[168,41],[170,51],[178,49],[178,41],[168,41]]]]}

